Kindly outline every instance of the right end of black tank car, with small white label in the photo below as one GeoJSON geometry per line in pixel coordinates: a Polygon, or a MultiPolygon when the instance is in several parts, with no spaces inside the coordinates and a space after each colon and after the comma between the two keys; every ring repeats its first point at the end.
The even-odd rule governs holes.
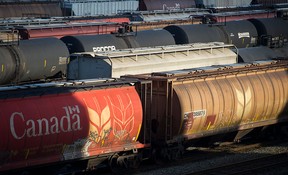
{"type": "Polygon", "coordinates": [[[229,43],[238,48],[257,45],[258,33],[255,26],[247,20],[230,21],[223,25],[229,43]]]}

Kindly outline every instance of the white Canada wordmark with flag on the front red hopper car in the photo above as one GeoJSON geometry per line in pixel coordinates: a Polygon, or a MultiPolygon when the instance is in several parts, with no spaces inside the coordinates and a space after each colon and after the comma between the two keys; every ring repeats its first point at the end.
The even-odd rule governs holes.
{"type": "Polygon", "coordinates": [[[10,116],[10,131],[15,139],[24,137],[37,137],[61,132],[73,132],[82,130],[80,123],[80,110],[77,105],[63,107],[66,115],[62,117],[52,116],[37,120],[26,120],[22,112],[14,112],[10,116]],[[19,127],[24,126],[24,127],[19,127]]]}

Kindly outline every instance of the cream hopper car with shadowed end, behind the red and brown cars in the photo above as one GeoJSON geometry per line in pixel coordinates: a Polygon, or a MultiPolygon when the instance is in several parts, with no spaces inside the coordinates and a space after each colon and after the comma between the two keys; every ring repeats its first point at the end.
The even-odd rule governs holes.
{"type": "Polygon", "coordinates": [[[119,78],[143,74],[237,63],[233,45],[223,43],[171,45],[112,52],[84,52],[70,55],[67,79],[119,78]]]}

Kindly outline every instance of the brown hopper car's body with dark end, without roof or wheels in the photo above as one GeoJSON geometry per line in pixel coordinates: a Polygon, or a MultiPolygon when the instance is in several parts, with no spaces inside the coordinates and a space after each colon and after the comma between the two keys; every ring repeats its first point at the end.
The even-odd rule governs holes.
{"type": "Polygon", "coordinates": [[[182,135],[192,139],[287,121],[287,114],[281,115],[287,111],[287,68],[188,77],[151,77],[156,140],[182,135]]]}

